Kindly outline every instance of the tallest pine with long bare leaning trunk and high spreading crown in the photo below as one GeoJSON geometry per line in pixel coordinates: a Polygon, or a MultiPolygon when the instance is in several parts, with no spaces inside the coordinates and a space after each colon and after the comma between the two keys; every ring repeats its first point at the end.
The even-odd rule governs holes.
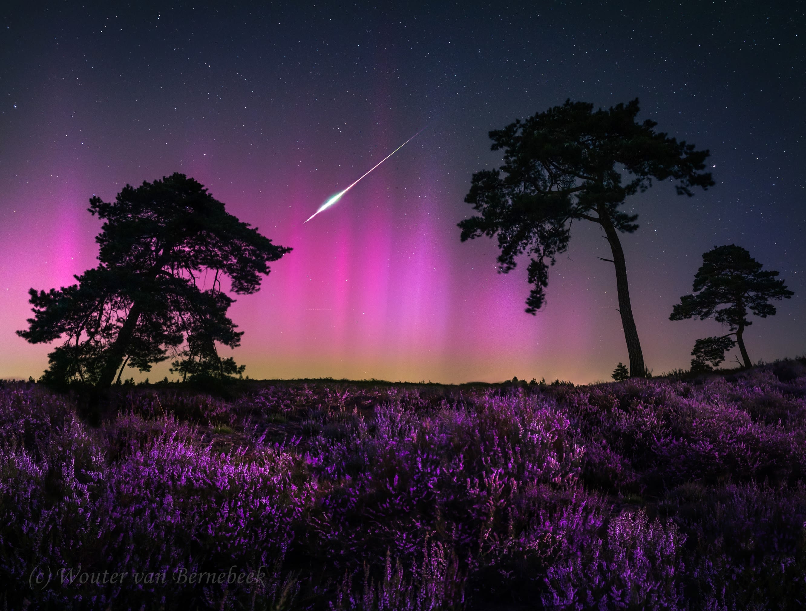
{"type": "Polygon", "coordinates": [[[608,110],[567,101],[525,121],[490,132],[492,150],[504,151],[504,165],[473,174],[465,202],[480,216],[459,222],[461,239],[497,236],[499,270],[510,272],[518,256],[530,257],[533,285],[526,312],[545,301],[549,264],[565,252],[571,222],[594,222],[605,231],[616,268],[618,307],[629,353],[630,376],[645,376],[646,365],[629,302],[627,268],[619,233],[638,229],[636,214],[620,210],[626,197],[645,191],[652,179],[673,178],[678,194],[713,185],[705,168],[708,151],[638,123],[638,100],[608,110]],[[626,181],[624,177],[627,177],[626,181]]]}

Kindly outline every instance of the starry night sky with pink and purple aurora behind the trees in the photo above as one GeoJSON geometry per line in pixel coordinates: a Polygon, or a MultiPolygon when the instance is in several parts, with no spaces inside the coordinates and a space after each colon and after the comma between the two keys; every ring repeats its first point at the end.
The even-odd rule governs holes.
{"type": "Polygon", "coordinates": [[[711,151],[713,189],[666,181],[625,206],[648,367],[688,368],[694,340],[720,331],[668,317],[702,253],[729,243],[796,293],[754,319],[750,358],[806,353],[803,3],[120,4],[0,17],[0,377],[47,367],[52,346],[14,332],[27,289],[96,264],[89,197],[183,172],[294,249],[231,309],[251,377],[609,378],[627,351],[596,227],[575,223],[534,317],[526,265],[498,274],[494,241],[456,227],[472,173],[500,164],[488,131],[567,98],[638,97],[639,119],[711,151]]]}

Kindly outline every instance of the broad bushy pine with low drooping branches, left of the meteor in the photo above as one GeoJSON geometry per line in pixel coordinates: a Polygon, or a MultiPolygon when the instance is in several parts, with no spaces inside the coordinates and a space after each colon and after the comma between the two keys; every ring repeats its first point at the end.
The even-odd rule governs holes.
{"type": "Polygon", "coordinates": [[[243,335],[226,316],[234,300],[222,279],[233,293],[255,293],[268,262],[291,249],[272,244],[179,173],[127,185],[111,203],[93,197],[89,212],[104,220],[98,267],[76,276],[76,285],[31,289],[34,318],[18,331],[31,343],[63,340],[48,355],[44,381],[102,389],[127,364],[147,372],[170,354],[181,357],[174,366],[183,373],[243,371],[216,349],[238,346],[243,335]]]}

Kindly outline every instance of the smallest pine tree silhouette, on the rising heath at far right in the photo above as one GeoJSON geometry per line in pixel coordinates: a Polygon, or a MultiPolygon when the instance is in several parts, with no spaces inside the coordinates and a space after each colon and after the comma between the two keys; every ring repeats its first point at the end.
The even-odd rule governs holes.
{"type": "Polygon", "coordinates": [[[741,246],[713,247],[703,254],[703,264],[694,276],[692,291],[683,295],[669,316],[670,320],[684,318],[713,318],[729,327],[730,333],[698,339],[692,355],[692,369],[716,367],[725,359],[725,351],[735,343],[742,353],[744,367],[752,365],[744,343],[744,330],[753,324],[749,313],[759,318],[775,315],[771,300],[789,299],[795,293],[787,289],[783,280],[775,280],[779,272],[762,270],[750,252],[741,246]]]}

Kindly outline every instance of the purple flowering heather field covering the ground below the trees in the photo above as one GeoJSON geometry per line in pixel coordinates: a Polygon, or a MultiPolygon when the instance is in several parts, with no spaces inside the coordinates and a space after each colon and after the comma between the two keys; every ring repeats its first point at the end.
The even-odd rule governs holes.
{"type": "Polygon", "coordinates": [[[802,609],[806,364],[0,389],[3,609],[802,609]],[[191,583],[192,582],[192,583],[191,583]]]}

